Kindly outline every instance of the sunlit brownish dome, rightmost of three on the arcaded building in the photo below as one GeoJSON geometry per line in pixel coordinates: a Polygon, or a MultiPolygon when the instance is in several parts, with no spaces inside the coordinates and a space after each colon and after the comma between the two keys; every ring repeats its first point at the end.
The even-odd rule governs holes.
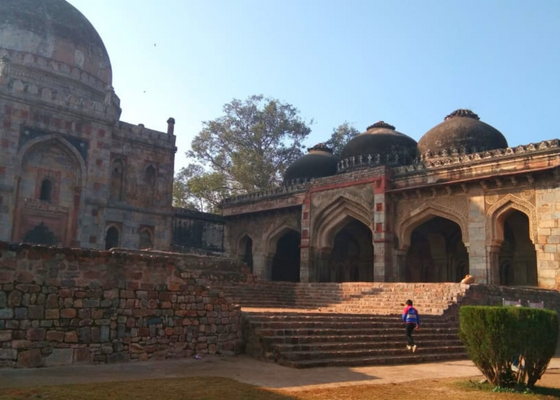
{"type": "Polygon", "coordinates": [[[480,121],[478,115],[471,110],[453,111],[418,141],[421,155],[436,155],[440,151],[452,149],[472,153],[506,147],[508,143],[504,135],[480,121]]]}

